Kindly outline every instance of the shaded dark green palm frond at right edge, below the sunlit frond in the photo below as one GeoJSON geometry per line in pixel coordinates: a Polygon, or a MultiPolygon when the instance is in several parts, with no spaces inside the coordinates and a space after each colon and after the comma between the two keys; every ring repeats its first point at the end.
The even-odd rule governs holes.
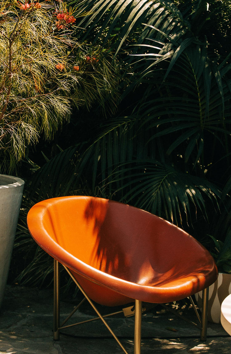
{"type": "MultiPolygon", "coordinates": [[[[174,137],[174,132],[178,133],[174,141],[169,140],[167,154],[187,142],[185,161],[196,149],[195,165],[204,151],[204,131],[216,137],[221,146],[224,146],[225,137],[230,134],[230,87],[226,78],[221,76],[227,74],[230,65],[226,64],[227,69],[224,65],[224,70],[219,70],[214,64],[212,70],[203,46],[202,50],[195,44],[185,49],[186,52],[181,53],[174,67],[170,71],[169,67],[167,69],[168,78],[160,86],[162,96],[152,99],[156,91],[149,93],[146,102],[138,109],[143,117],[140,129],[158,126],[151,139],[168,134],[174,137]],[[193,48],[196,48],[197,59],[193,48]]],[[[154,74],[157,72],[158,69],[154,74]]]]}

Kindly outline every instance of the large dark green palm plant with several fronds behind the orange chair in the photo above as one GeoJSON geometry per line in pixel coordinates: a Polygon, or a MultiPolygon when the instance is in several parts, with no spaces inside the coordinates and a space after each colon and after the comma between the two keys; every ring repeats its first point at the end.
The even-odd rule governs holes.
{"type": "MultiPolygon", "coordinates": [[[[219,197],[224,186],[216,170],[222,165],[222,173],[228,171],[231,63],[218,47],[211,52],[206,38],[219,7],[212,2],[210,11],[205,1],[178,6],[170,1],[98,1],[86,23],[90,31],[108,13],[97,36],[109,26],[105,42],[123,23],[111,45],[116,53],[123,49],[132,54],[133,82],[127,92],[140,86],[130,115],[107,124],[82,157],[78,173],[92,158],[93,187],[100,173],[105,195],[114,193],[173,222],[182,219],[180,211],[186,217],[209,211],[210,202],[202,203],[205,194],[208,200],[219,197]],[[135,30],[140,36],[128,46],[135,30]]],[[[230,10],[228,2],[226,7],[230,10]]],[[[220,28],[225,26],[222,22],[220,28]]]]}

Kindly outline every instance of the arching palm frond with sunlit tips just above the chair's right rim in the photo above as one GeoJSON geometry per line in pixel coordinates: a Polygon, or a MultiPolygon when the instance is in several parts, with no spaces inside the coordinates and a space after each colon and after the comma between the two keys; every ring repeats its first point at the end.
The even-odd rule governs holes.
{"type": "MultiPolygon", "coordinates": [[[[113,183],[127,190],[120,201],[158,214],[171,222],[189,218],[192,206],[206,217],[205,198],[217,206],[220,191],[204,178],[184,174],[159,161],[129,161],[113,172],[113,183]],[[126,167],[132,164],[133,167],[126,167]],[[134,171],[134,172],[133,172],[134,171]]],[[[119,192],[119,190],[116,191],[119,192]]]]}

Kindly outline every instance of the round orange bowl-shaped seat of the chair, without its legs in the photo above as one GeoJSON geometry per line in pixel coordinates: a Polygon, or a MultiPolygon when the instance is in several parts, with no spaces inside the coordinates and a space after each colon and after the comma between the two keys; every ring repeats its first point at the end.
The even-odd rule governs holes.
{"type": "Polygon", "coordinates": [[[192,236],[119,202],[87,196],[45,200],[29,211],[28,227],[35,241],[77,277],[106,287],[114,281],[117,288],[119,280],[164,291],[167,283],[191,276],[195,293],[216,280],[212,256],[192,236]]]}

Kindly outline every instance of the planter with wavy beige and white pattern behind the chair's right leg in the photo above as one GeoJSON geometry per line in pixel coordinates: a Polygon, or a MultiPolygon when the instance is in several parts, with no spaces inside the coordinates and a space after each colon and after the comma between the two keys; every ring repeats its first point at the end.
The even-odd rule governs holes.
{"type": "MultiPolygon", "coordinates": [[[[231,294],[231,274],[219,273],[218,279],[209,287],[208,320],[220,323],[221,304],[231,294]]],[[[199,309],[202,305],[202,291],[195,294],[199,309]]]]}

